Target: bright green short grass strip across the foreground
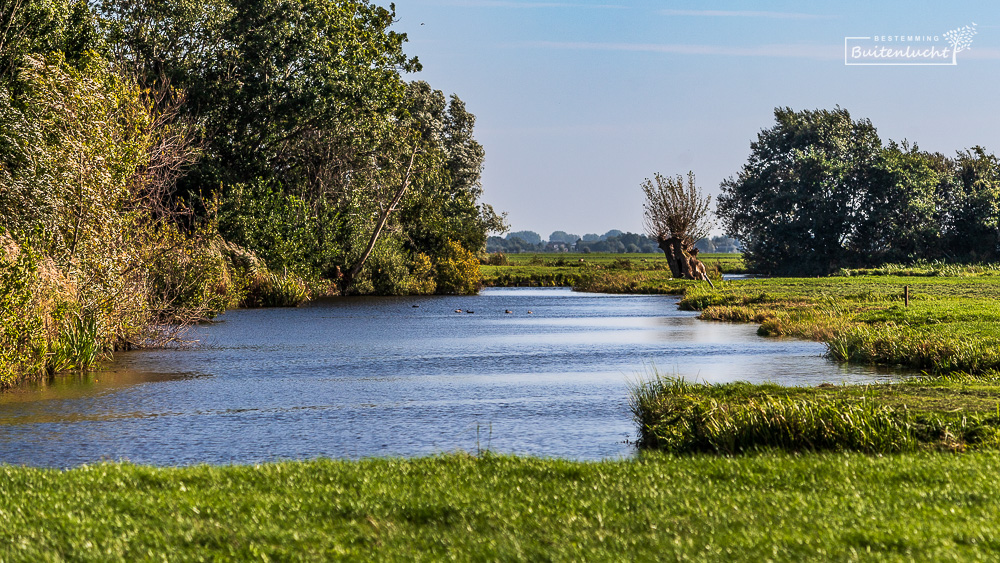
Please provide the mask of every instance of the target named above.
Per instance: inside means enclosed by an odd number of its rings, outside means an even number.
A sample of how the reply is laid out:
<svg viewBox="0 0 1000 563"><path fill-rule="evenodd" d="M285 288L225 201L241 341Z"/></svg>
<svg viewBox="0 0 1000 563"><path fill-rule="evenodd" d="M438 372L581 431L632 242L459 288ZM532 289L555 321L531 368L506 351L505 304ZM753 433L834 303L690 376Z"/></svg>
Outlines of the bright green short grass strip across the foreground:
<svg viewBox="0 0 1000 563"><path fill-rule="evenodd" d="M991 560L1000 454L0 468L0 558Z"/></svg>

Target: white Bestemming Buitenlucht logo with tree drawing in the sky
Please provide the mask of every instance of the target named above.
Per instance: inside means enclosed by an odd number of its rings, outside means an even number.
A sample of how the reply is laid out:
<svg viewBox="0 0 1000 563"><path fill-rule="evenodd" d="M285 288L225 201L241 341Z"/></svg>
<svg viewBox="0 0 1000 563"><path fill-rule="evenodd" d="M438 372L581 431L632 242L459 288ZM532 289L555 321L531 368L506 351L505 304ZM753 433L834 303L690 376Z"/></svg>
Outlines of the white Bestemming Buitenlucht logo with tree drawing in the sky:
<svg viewBox="0 0 1000 563"><path fill-rule="evenodd" d="M976 24L937 35L872 35L844 38L847 66L954 66L972 48Z"/></svg>

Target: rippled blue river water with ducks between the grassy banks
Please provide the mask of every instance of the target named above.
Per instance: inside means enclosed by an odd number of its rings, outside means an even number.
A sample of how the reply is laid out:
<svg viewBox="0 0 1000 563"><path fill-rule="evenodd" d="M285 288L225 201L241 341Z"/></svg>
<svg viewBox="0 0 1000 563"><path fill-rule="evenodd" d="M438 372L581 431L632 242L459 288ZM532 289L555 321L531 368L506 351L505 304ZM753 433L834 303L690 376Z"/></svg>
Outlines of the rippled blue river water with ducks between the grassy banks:
<svg viewBox="0 0 1000 563"><path fill-rule="evenodd" d="M102 371L0 394L0 462L183 465L487 448L617 458L633 452L628 385L653 366L709 382L886 377L825 359L821 344L695 317L674 297L562 288L230 311L193 329L188 349L119 353Z"/></svg>

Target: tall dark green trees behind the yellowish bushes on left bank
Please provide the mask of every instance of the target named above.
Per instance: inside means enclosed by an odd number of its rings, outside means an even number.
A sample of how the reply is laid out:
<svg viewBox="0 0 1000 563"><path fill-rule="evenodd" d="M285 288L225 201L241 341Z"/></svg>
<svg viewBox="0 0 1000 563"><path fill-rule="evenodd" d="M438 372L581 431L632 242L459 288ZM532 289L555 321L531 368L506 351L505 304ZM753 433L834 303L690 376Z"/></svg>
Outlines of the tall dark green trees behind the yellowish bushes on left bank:
<svg viewBox="0 0 1000 563"><path fill-rule="evenodd" d="M449 241L480 252L503 229L478 203L475 117L401 79L420 63L392 6L106 0L102 13L121 60L187 92L204 154L178 196L219 197L222 235L272 268L351 292L426 290L406 279L425 258L436 268ZM380 256L396 267L364 268Z"/></svg>

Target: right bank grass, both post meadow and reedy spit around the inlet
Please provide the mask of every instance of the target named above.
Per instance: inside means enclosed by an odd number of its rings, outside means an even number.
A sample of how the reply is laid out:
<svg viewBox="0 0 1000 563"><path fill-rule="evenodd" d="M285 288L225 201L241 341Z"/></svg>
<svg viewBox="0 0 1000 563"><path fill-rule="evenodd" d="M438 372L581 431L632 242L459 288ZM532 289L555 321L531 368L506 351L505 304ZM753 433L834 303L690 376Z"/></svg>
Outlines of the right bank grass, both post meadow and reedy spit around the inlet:
<svg viewBox="0 0 1000 563"><path fill-rule="evenodd" d="M826 278L683 288L699 318L825 343L837 361L918 380L824 388L699 385L654 374L633 390L640 444L674 452L1000 447L1000 275L993 266L888 266Z"/></svg>

